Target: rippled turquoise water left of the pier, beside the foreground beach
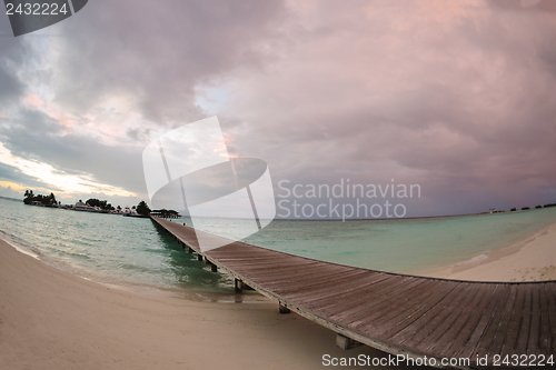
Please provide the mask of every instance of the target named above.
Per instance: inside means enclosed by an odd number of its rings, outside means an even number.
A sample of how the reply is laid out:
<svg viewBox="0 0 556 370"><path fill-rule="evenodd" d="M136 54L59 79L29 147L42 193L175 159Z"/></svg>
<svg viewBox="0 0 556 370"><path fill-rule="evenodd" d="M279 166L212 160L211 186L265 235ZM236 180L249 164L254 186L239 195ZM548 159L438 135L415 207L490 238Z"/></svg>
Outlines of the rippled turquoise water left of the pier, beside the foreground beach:
<svg viewBox="0 0 556 370"><path fill-rule="evenodd" d="M232 280L157 231L150 219L24 206L0 198L0 238L102 282L226 293Z"/></svg>

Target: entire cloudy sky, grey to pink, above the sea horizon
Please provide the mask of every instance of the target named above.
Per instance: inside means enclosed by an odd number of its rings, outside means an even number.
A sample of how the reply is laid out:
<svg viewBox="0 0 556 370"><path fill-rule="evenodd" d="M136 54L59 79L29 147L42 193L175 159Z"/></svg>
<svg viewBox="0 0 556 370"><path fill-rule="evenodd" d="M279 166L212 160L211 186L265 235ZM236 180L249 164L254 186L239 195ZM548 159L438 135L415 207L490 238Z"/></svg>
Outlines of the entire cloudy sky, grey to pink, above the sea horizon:
<svg viewBox="0 0 556 370"><path fill-rule="evenodd" d="M1 14L0 14L1 16ZM556 1L90 0L0 17L0 196L148 200L141 153L218 116L294 184L419 184L407 216L556 202Z"/></svg>

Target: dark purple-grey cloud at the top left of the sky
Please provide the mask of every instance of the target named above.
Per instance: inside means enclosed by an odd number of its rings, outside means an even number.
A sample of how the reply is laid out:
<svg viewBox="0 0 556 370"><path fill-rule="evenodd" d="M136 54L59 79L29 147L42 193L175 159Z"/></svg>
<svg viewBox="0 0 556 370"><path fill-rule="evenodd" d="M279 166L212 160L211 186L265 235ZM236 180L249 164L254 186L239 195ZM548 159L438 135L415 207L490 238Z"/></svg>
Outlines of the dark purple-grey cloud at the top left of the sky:
<svg viewBox="0 0 556 370"><path fill-rule="evenodd" d="M284 14L276 0L91 2L87 14L63 23L57 100L86 112L122 93L158 123L202 118L196 86L260 67L257 42Z"/></svg>

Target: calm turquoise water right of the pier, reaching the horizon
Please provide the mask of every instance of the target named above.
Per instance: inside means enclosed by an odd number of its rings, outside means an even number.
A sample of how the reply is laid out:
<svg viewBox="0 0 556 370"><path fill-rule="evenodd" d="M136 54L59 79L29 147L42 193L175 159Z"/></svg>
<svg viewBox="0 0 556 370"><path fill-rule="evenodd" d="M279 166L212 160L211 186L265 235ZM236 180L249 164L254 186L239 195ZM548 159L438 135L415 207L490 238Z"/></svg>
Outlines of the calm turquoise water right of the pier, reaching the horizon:
<svg viewBox="0 0 556 370"><path fill-rule="evenodd" d="M196 227L228 237L228 220ZM291 254L419 274L512 246L556 222L556 208L461 217L365 221L272 221L244 241ZM234 227L241 226L235 221Z"/></svg>

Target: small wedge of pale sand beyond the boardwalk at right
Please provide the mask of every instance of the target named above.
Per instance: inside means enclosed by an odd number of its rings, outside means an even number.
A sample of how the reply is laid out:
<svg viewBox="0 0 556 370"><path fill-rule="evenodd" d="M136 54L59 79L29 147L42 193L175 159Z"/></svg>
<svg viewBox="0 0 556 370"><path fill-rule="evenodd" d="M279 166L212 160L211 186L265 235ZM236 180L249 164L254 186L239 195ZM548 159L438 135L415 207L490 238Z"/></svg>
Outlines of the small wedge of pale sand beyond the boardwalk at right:
<svg viewBox="0 0 556 370"><path fill-rule="evenodd" d="M526 282L556 280L556 223L507 247L448 268L423 273L431 278Z"/></svg>

